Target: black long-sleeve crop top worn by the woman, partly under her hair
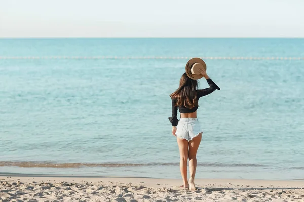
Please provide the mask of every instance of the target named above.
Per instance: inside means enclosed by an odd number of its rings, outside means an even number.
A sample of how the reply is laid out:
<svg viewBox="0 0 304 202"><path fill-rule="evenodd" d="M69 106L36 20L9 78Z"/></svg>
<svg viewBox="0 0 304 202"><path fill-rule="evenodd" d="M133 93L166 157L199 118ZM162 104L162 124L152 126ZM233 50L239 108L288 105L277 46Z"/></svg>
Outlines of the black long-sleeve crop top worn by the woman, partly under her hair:
<svg viewBox="0 0 304 202"><path fill-rule="evenodd" d="M197 99L214 92L216 89L220 90L220 88L210 78L207 79L206 81L210 87L202 89L202 90L196 90ZM198 109L197 106L189 109L189 108L186 108L185 106L175 106L175 105L176 105L176 99L172 98L172 116L168 117L172 126L177 126L177 124L178 124L177 107L179 108L180 113L191 113L191 112L195 112Z"/></svg>

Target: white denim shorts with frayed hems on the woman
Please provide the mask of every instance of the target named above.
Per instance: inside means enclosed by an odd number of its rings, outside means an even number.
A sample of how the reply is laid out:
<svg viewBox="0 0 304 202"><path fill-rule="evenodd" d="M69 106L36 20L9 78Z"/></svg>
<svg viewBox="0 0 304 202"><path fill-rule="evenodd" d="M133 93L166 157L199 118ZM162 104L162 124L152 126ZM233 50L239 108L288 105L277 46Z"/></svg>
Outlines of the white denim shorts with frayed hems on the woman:
<svg viewBox="0 0 304 202"><path fill-rule="evenodd" d="M176 136L191 141L203 133L198 118L180 118L177 124Z"/></svg>

